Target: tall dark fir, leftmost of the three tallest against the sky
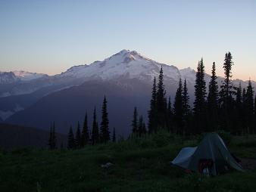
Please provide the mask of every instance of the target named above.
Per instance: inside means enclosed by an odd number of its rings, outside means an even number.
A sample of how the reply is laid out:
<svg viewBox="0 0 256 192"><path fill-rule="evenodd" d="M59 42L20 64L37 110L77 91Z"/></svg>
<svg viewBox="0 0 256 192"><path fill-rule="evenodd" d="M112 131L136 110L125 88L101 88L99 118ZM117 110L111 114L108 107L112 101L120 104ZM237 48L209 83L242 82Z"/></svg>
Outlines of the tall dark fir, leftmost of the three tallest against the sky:
<svg viewBox="0 0 256 192"><path fill-rule="evenodd" d="M194 120L195 133L201 133L205 127L205 95L206 83L204 81L204 62L203 59L198 62L198 69L195 78L195 102L194 102Z"/></svg>

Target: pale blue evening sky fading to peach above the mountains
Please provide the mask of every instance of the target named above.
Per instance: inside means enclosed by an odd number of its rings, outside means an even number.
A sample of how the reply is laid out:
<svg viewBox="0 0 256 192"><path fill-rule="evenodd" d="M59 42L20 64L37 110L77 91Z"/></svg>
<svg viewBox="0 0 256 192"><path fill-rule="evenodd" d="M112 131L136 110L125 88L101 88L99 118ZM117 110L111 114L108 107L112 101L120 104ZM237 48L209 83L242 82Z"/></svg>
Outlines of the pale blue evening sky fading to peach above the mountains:
<svg viewBox="0 0 256 192"><path fill-rule="evenodd" d="M256 80L256 1L0 0L0 71L56 74L122 49L206 72L233 54L233 79Z"/></svg>

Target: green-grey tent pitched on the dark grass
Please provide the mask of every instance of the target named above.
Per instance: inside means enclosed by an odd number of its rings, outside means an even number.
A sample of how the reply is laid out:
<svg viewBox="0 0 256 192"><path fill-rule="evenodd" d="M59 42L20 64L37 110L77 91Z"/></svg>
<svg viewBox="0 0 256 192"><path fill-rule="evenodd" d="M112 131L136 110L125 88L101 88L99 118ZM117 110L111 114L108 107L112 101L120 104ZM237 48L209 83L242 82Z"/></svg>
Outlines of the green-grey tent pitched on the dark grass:
<svg viewBox="0 0 256 192"><path fill-rule="evenodd" d="M218 175L223 169L233 168L243 171L242 166L229 153L222 138L217 133L208 133L198 147L185 147L171 162L173 165L200 172L206 165L210 175ZM204 169L205 167L202 166Z"/></svg>

